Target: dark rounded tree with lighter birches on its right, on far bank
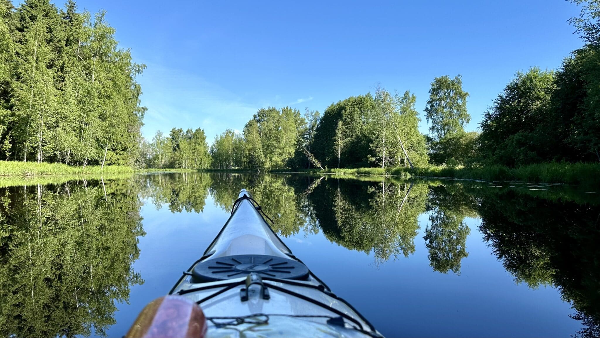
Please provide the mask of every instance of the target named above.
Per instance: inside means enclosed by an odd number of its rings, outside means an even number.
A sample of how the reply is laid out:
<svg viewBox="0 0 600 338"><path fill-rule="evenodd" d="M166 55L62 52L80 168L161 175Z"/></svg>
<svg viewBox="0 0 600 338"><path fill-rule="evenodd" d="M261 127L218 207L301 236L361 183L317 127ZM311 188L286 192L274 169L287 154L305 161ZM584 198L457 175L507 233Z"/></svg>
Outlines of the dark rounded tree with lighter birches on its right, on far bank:
<svg viewBox="0 0 600 338"><path fill-rule="evenodd" d="M392 95L377 88L375 97L349 97L329 106L315 129L314 156L334 168L427 164L415 102L409 91Z"/></svg>

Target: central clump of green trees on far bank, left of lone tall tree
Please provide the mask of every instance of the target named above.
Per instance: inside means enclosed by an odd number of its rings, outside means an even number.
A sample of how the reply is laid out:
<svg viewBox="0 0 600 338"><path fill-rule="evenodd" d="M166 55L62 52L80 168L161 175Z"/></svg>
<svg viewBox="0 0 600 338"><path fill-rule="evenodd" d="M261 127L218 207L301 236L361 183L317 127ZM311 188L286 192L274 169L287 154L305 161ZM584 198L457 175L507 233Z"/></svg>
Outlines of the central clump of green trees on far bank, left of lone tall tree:
<svg viewBox="0 0 600 338"><path fill-rule="evenodd" d="M220 169L364 167L427 164L418 131L416 97L407 91L349 97L318 111L262 108L242 133L230 129L211 146L211 167Z"/></svg>

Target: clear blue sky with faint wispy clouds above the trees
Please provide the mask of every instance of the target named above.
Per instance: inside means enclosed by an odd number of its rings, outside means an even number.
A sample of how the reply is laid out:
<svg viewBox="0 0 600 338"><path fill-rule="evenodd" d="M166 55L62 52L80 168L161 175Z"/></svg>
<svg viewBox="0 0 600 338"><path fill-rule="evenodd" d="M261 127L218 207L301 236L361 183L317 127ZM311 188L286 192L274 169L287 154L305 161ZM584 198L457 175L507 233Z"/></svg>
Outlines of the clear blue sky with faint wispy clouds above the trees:
<svg viewBox="0 0 600 338"><path fill-rule="evenodd" d="M581 41L564 0L80 0L107 11L121 46L148 66L142 133L203 128L209 143L257 109L323 112L373 91L410 90L422 112L435 76L463 75L475 130L517 70L556 69ZM422 116L422 132L428 126Z"/></svg>

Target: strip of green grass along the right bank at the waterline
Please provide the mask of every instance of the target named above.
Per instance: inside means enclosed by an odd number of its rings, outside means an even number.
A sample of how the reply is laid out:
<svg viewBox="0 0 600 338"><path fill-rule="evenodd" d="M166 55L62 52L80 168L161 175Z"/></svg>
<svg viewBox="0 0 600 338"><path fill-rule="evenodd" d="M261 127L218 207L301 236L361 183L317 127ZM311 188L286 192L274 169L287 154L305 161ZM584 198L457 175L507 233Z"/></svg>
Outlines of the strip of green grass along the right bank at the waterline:
<svg viewBox="0 0 600 338"><path fill-rule="evenodd" d="M413 176L455 177L481 180L600 185L600 164L540 163L518 168L489 165L481 168L425 167L410 170Z"/></svg>

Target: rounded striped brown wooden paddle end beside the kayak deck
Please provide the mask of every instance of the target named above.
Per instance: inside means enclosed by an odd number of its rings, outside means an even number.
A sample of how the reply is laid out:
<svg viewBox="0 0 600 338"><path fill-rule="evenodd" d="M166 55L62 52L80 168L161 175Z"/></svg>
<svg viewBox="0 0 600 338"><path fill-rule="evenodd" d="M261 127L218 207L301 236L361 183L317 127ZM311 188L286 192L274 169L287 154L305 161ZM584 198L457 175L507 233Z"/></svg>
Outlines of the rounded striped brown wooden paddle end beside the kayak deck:
<svg viewBox="0 0 600 338"><path fill-rule="evenodd" d="M206 326L204 313L196 303L169 295L146 305L125 338L203 338Z"/></svg>

